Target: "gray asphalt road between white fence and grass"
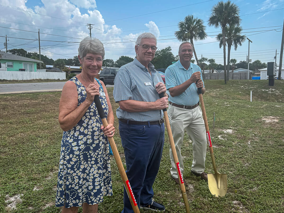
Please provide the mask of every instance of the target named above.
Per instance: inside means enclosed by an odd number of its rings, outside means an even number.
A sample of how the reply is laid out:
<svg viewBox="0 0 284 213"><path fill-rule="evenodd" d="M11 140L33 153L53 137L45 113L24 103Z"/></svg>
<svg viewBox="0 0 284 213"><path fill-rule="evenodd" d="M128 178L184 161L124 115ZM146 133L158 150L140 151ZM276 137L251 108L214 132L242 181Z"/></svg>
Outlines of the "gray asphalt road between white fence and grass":
<svg viewBox="0 0 284 213"><path fill-rule="evenodd" d="M65 82L0 84L0 94L62 91ZM113 87L113 85L106 85Z"/></svg>

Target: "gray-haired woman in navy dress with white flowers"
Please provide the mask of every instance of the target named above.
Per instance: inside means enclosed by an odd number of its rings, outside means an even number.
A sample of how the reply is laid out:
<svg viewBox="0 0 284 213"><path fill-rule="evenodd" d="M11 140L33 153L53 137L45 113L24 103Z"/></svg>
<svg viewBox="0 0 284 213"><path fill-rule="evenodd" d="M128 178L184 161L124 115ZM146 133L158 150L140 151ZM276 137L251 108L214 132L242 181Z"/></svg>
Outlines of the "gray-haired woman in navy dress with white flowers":
<svg viewBox="0 0 284 213"><path fill-rule="evenodd" d="M56 206L62 212L96 213L103 196L112 195L107 137L114 135L114 116L103 82L95 76L101 70L105 50L98 39L80 42L78 58L82 72L67 81L59 103L59 123L63 137L58 172ZM94 103L99 95L107 116L103 123Z"/></svg>

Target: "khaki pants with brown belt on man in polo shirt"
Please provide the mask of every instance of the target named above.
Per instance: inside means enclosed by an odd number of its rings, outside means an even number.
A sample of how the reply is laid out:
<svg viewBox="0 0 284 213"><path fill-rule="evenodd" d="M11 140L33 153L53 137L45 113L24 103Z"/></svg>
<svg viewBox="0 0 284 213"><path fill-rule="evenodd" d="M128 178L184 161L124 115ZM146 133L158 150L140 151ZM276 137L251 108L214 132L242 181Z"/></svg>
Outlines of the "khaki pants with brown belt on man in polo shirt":
<svg viewBox="0 0 284 213"><path fill-rule="evenodd" d="M205 170L206 157L206 131L202 111L199 106L194 109L183 109L169 105L168 117L174 137L175 147L178 154L181 173L183 174L183 160L181 156L181 145L183 142L184 130L186 130L189 138L193 141L193 161L191 170L201 174ZM176 164L170 148L170 158L172 168L170 170L173 178L178 178Z"/></svg>

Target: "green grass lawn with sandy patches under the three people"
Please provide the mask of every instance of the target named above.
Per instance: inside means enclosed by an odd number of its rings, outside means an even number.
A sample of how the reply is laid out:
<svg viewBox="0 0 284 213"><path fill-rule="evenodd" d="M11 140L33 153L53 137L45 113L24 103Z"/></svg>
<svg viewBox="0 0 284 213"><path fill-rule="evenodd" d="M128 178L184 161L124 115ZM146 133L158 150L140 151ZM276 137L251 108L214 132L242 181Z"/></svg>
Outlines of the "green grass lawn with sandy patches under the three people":
<svg viewBox="0 0 284 213"><path fill-rule="evenodd" d="M181 151L191 212L284 212L284 80L275 80L274 87L268 86L268 80L229 80L227 85L224 80L205 80L205 86L217 170L227 174L228 190L225 197L214 197L206 182L190 174L192 143L185 134ZM107 89L115 114L113 88ZM55 207L62 138L57 120L60 95L0 95L0 212L61 212ZM115 126L114 140L124 163L117 119ZM181 191L169 172L169 148L166 133L154 199L166 206L165 212L182 213ZM111 171L113 196L99 204L100 213L123 208L123 184L113 156ZM205 172L213 173L209 149Z"/></svg>

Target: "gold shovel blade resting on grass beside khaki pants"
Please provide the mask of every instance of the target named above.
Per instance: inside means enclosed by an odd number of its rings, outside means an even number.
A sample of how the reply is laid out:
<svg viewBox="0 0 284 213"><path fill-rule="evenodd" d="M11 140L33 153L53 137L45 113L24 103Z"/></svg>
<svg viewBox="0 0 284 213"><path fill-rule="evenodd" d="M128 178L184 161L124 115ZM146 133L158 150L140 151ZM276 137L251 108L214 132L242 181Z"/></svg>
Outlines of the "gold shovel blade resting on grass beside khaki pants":
<svg viewBox="0 0 284 213"><path fill-rule="evenodd" d="M227 193L227 174L207 174L208 187L212 195L224 197Z"/></svg>

